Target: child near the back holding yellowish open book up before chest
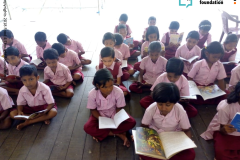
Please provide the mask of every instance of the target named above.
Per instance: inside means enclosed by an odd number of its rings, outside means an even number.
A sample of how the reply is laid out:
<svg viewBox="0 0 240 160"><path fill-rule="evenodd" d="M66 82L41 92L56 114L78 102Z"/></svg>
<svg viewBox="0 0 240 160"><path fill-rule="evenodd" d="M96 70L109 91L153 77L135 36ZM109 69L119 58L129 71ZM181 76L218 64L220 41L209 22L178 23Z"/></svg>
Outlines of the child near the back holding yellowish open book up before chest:
<svg viewBox="0 0 240 160"><path fill-rule="evenodd" d="M165 33L162 37L161 42L165 45L165 58L168 60L175 57L176 50L180 46L179 43L174 44L170 42L170 34L178 34L179 23L177 21L172 21L169 26L169 32ZM170 42L170 43L169 43Z"/></svg>

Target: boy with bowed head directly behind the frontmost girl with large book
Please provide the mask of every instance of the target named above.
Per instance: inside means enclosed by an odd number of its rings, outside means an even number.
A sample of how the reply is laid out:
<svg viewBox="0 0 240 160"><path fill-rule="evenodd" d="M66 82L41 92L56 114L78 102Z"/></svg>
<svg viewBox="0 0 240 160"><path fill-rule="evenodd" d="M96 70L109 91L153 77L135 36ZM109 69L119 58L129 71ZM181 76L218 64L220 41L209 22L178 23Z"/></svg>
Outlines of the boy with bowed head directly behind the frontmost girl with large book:
<svg viewBox="0 0 240 160"><path fill-rule="evenodd" d="M184 63L182 60L175 57L170 58L166 65L166 72L161 74L156 79L150 90L153 91L154 87L161 82L174 83L180 91L180 96L190 96L188 80L185 76L182 75L183 68ZM144 108L149 107L153 102L154 100L152 98L152 95L146 96L140 100L140 104ZM197 115L196 108L193 107L187 99L182 99L179 101L179 103L186 110L189 118L195 117Z"/></svg>

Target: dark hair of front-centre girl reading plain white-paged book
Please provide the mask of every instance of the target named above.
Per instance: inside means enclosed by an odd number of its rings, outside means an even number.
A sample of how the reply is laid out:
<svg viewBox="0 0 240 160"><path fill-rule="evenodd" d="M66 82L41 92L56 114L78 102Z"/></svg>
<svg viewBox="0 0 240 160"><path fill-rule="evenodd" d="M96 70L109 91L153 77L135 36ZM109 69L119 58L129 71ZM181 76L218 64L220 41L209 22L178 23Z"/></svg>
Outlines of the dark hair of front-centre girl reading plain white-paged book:
<svg viewBox="0 0 240 160"><path fill-rule="evenodd" d="M98 90L97 85L105 87L106 83L110 80L114 81L112 73L107 68L100 69L94 75L93 85Z"/></svg>

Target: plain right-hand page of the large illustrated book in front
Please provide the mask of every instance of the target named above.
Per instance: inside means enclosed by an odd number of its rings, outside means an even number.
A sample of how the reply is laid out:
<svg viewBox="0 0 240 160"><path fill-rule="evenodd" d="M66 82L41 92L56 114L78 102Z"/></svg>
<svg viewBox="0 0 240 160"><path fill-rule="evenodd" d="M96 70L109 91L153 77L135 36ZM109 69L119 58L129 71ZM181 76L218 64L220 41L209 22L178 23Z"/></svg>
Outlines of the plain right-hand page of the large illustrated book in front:
<svg viewBox="0 0 240 160"><path fill-rule="evenodd" d="M184 132L162 132L159 136L168 159L178 152L197 147Z"/></svg>

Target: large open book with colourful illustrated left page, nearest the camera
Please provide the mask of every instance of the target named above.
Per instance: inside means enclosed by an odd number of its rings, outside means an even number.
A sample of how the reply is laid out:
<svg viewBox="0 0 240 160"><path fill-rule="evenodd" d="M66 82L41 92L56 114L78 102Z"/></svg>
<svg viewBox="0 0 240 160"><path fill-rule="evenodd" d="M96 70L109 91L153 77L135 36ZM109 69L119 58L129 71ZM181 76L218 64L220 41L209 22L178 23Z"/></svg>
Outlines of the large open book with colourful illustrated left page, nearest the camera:
<svg viewBox="0 0 240 160"><path fill-rule="evenodd" d="M197 148L184 132L162 132L137 127L133 130L135 152L157 159L170 159L175 154L190 148Z"/></svg>

